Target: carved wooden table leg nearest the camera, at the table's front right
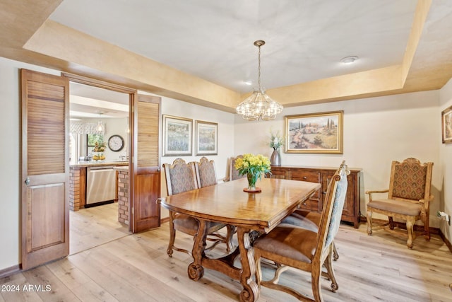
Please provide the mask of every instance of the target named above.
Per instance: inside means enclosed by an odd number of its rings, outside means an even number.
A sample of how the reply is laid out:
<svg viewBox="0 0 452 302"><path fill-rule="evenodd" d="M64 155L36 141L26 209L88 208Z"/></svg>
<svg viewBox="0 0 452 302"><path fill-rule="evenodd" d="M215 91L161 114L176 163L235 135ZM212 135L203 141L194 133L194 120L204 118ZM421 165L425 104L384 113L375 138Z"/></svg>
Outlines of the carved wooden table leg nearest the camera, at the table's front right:
<svg viewBox="0 0 452 302"><path fill-rule="evenodd" d="M239 227L237 229L237 240L242 262L242 274L240 274L240 283L243 286L240 293L240 301L257 301L259 298L259 287L252 277L256 274L256 264L254 262L254 249L249 240L249 231Z"/></svg>

